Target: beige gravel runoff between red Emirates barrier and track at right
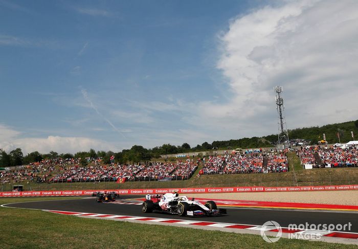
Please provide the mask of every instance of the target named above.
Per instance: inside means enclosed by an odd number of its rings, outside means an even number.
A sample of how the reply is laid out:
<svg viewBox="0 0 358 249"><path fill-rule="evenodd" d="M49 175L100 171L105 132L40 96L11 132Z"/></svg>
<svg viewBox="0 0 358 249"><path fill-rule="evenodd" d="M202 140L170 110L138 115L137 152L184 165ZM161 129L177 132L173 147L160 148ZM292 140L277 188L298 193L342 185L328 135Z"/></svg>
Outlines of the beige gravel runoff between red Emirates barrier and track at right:
<svg viewBox="0 0 358 249"><path fill-rule="evenodd" d="M188 194L188 196L196 197L196 198L212 198L212 199L301 202L301 203L358 206L358 190L276 192L276 193L258 192L258 193Z"/></svg>

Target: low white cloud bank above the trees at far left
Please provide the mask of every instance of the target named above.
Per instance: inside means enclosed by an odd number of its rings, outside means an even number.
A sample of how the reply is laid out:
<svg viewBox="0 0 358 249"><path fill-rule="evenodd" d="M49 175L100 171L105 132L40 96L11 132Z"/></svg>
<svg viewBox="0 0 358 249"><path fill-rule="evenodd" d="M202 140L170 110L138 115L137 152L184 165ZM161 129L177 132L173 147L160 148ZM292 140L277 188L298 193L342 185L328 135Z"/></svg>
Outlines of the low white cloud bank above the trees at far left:
<svg viewBox="0 0 358 249"><path fill-rule="evenodd" d="M21 148L24 154L32 151L48 153L53 150L58 153L88 151L91 148L96 150L119 151L120 148L114 143L107 143L102 140L82 137L59 137L50 135L47 138L19 138L20 132L6 126L0 125L0 148L11 151Z"/></svg>

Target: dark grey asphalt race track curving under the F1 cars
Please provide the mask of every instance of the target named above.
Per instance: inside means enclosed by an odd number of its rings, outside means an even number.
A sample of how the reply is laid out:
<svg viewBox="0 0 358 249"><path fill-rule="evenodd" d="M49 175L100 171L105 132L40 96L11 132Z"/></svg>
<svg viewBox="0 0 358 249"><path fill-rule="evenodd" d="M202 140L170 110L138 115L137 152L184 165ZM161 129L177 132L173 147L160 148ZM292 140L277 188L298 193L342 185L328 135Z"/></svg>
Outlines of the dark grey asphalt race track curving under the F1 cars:
<svg viewBox="0 0 358 249"><path fill-rule="evenodd" d="M123 198L138 198L143 196L125 196ZM117 198L118 199L118 198ZM348 224L350 232L358 233L358 212L327 212L327 211L297 211L297 210L265 210L265 209L227 209L228 214L217 217L180 217L162 213L142 213L140 205L121 205L115 203L98 203L95 198L34 201L12 203L6 207L57 210L83 213L98 213L111 215L144 216L152 218L185 219L195 221L226 222L237 224L262 225L266 221L276 221L281 227L288 224Z"/></svg>

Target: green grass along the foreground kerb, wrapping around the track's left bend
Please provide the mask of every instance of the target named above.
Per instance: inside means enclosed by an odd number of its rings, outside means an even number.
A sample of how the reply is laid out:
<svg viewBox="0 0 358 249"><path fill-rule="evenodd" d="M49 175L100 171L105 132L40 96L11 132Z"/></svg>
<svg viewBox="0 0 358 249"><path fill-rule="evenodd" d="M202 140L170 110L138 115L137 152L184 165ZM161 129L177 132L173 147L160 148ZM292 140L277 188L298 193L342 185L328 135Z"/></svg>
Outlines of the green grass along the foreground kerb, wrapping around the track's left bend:
<svg viewBox="0 0 358 249"><path fill-rule="evenodd" d="M1 198L0 204L63 198ZM0 208L1 248L356 248L353 245L86 219L39 210Z"/></svg>

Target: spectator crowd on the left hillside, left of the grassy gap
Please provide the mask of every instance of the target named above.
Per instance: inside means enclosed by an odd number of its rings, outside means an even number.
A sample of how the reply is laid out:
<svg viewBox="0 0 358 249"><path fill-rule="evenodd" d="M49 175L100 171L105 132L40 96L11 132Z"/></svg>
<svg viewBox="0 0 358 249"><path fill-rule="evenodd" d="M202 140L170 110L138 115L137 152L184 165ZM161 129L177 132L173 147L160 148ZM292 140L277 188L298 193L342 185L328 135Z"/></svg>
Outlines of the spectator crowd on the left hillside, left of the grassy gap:
<svg viewBox="0 0 358 249"><path fill-rule="evenodd" d="M26 180L36 183L101 182L126 180L182 180L188 179L197 169L193 160L176 163L144 164L100 164L100 159L86 158L88 166L81 166L80 159L42 160L10 171L0 171L0 184L21 183Z"/></svg>

